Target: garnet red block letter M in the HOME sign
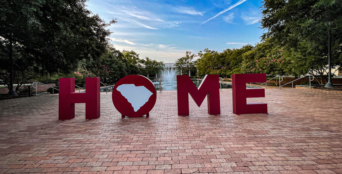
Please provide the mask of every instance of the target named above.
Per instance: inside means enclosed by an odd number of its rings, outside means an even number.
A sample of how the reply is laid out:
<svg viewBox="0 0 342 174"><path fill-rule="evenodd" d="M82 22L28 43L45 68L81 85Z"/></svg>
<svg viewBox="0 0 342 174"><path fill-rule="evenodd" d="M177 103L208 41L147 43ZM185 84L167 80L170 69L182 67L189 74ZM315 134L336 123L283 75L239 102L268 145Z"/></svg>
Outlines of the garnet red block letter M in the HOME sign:
<svg viewBox="0 0 342 174"><path fill-rule="evenodd" d="M221 114L219 75L206 75L196 88L194 82L187 75L177 76L177 105L178 115L189 115L189 95L194 99L198 107L208 95L208 113L210 115Z"/></svg>

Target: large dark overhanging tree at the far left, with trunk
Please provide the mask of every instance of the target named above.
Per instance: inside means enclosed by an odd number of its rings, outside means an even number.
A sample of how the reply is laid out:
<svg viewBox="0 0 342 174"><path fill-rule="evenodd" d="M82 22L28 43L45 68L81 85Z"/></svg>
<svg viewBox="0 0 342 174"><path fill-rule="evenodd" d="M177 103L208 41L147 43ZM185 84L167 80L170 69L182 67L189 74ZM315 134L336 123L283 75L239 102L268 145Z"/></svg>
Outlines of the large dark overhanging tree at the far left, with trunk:
<svg viewBox="0 0 342 174"><path fill-rule="evenodd" d="M108 25L86 9L86 0L2 0L0 36L8 48L9 90L13 92L13 44L20 44L36 72L72 72L78 61L98 58L109 45Z"/></svg>

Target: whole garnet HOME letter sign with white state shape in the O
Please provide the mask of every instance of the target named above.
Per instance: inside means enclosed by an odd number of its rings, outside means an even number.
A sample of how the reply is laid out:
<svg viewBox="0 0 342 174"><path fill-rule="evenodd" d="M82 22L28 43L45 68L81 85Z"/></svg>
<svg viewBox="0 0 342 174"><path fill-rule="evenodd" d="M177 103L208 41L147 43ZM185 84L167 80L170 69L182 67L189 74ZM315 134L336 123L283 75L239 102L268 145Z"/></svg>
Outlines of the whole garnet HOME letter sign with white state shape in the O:
<svg viewBox="0 0 342 174"><path fill-rule="evenodd" d="M246 83L266 82L266 74L234 74L233 113L267 113L265 103L247 103L247 98L265 97L264 89L246 89ZM206 75L198 89L187 75L177 76L178 115L189 115L189 97L201 106L208 99L208 113L219 115L220 89L219 75ZM86 119L100 117L100 78L86 78L86 92L75 92L75 78L59 79L58 118L69 120L75 117L75 103L86 103ZM151 80L140 75L129 75L120 79L113 88L113 104L122 117L149 116L157 100L157 90Z"/></svg>

